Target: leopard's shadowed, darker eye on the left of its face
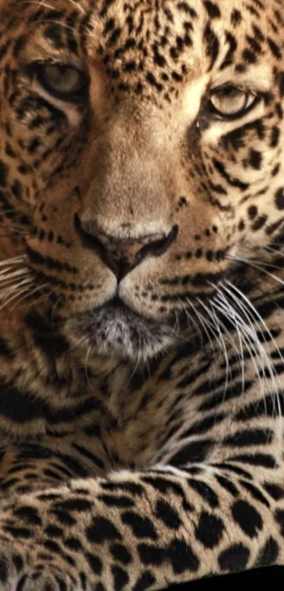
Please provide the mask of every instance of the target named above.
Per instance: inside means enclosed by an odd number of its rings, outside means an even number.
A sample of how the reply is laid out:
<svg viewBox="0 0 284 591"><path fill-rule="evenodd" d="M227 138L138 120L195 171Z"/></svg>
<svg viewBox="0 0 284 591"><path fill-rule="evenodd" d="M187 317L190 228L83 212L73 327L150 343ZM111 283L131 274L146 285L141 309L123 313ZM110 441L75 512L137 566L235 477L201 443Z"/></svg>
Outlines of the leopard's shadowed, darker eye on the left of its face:
<svg viewBox="0 0 284 591"><path fill-rule="evenodd" d="M49 94L63 101L78 100L88 85L84 72L65 63L37 63L33 73Z"/></svg>

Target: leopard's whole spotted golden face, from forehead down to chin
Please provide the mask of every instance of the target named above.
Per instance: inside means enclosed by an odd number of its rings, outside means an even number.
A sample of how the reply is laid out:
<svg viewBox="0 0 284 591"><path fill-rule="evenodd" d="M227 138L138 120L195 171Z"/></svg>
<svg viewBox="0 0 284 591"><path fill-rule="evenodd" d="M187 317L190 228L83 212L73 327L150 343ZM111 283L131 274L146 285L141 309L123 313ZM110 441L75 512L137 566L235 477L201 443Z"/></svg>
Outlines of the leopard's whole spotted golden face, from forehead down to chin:
<svg viewBox="0 0 284 591"><path fill-rule="evenodd" d="M279 240L282 9L3 2L3 251L27 256L25 304L56 310L82 351L173 346Z"/></svg>

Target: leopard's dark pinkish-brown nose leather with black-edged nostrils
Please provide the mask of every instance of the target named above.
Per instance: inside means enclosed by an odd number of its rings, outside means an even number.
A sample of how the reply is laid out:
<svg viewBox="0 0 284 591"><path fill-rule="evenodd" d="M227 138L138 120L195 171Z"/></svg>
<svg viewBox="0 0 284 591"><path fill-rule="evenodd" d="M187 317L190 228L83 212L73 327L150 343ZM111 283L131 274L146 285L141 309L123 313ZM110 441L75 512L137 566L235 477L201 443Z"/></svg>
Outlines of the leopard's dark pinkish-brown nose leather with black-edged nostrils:
<svg viewBox="0 0 284 591"><path fill-rule="evenodd" d="M118 280L123 279L147 256L161 256L178 235L178 227L174 226L168 235L159 232L135 239L119 239L106 234L96 223L82 222L78 214L75 215L74 225L82 245L97 251Z"/></svg>

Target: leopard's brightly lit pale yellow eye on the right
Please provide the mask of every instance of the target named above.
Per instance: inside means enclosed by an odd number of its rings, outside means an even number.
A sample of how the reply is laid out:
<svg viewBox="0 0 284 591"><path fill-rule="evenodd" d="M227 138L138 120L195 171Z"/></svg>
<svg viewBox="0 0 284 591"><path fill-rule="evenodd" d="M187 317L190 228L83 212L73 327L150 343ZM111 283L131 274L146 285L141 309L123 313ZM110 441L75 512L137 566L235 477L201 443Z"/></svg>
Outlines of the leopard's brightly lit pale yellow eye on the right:
<svg viewBox="0 0 284 591"><path fill-rule="evenodd" d="M211 92L210 107L215 116L234 119L249 111L256 101L257 97L252 92L228 86Z"/></svg>

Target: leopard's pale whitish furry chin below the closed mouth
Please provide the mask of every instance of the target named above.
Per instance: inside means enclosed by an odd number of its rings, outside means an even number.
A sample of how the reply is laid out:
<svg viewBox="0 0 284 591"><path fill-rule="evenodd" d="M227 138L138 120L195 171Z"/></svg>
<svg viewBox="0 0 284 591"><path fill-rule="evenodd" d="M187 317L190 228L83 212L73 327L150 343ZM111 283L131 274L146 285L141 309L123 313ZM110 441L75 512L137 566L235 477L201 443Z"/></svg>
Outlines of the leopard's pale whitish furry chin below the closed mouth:
<svg viewBox="0 0 284 591"><path fill-rule="evenodd" d="M133 363L144 363L166 353L180 340L171 323L150 321L118 298L80 313L70 322L77 339L85 337L92 354Z"/></svg>

